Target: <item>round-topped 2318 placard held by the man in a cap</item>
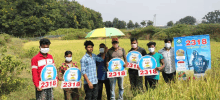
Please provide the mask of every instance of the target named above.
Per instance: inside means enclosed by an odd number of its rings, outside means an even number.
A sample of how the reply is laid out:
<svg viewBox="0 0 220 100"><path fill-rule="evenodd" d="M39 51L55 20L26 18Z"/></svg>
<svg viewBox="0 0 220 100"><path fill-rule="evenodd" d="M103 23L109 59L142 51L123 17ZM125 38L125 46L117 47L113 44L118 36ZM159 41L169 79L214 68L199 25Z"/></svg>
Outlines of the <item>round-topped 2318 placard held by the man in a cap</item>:
<svg viewBox="0 0 220 100"><path fill-rule="evenodd" d="M114 78L126 76L126 71L123 67L124 64L125 62L120 58L114 58L109 61L107 77Z"/></svg>

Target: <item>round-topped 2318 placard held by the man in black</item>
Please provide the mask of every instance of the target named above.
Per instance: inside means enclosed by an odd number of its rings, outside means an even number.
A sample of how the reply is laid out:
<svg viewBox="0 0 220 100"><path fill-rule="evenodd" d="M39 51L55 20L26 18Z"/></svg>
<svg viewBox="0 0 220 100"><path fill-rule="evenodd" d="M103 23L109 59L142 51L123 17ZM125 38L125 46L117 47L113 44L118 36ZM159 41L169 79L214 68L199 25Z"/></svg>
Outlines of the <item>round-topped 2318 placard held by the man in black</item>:
<svg viewBox="0 0 220 100"><path fill-rule="evenodd" d="M128 60L128 68L131 69L138 69L138 61L142 57L141 53L138 51L131 51L127 54L127 60Z"/></svg>

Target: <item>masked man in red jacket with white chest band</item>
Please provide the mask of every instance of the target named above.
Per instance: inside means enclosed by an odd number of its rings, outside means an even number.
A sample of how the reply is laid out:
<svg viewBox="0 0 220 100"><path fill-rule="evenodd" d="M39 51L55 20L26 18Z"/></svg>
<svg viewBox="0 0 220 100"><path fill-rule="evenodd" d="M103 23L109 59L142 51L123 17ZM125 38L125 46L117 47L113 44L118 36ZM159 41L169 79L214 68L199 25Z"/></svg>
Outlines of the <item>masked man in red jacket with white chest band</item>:
<svg viewBox="0 0 220 100"><path fill-rule="evenodd" d="M37 100L53 100L53 89L42 89L39 87L41 81L40 74L44 66L48 64L54 65L52 55L48 54L50 40L43 38L40 40L40 52L31 59L32 66L32 79L36 88L36 99Z"/></svg>

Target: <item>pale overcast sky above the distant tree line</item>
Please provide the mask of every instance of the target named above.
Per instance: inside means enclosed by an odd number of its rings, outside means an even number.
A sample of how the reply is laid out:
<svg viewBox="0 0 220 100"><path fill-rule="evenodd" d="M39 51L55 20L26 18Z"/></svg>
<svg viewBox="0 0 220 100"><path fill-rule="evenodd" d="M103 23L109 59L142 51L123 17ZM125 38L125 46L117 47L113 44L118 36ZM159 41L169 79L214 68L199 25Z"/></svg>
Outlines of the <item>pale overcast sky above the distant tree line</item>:
<svg viewBox="0 0 220 100"><path fill-rule="evenodd" d="M119 20L140 23L153 20L156 26L174 23L185 16L193 16L201 22L208 12L220 10L220 0L76 0L81 5L98 11L103 21Z"/></svg>

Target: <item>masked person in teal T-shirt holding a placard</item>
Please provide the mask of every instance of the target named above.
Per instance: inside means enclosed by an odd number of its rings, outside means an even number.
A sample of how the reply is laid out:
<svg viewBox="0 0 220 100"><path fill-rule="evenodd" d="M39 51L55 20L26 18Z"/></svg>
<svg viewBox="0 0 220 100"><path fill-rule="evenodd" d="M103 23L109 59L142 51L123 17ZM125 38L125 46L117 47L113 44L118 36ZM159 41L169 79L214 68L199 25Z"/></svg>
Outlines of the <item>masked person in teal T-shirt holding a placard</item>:
<svg viewBox="0 0 220 100"><path fill-rule="evenodd" d="M155 68L155 70L157 71L162 71L164 68L164 60L163 60L163 56L157 52L155 52L155 46L156 43L155 42L149 42L147 44L148 46L148 50L149 50L149 55L153 56L156 59L157 62L157 67ZM160 67L160 63L162 63L162 66ZM160 79L160 75L151 75L151 76L145 76L145 86L146 86L146 90L148 90L148 84L150 86L150 88L154 89L156 87L156 84L158 83L158 80Z"/></svg>

